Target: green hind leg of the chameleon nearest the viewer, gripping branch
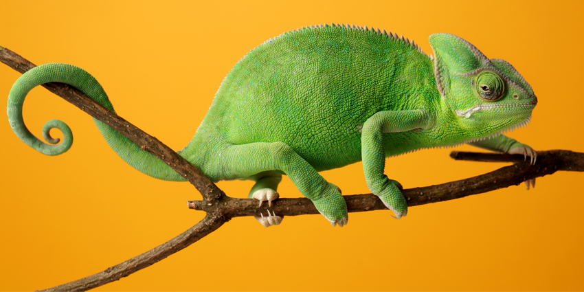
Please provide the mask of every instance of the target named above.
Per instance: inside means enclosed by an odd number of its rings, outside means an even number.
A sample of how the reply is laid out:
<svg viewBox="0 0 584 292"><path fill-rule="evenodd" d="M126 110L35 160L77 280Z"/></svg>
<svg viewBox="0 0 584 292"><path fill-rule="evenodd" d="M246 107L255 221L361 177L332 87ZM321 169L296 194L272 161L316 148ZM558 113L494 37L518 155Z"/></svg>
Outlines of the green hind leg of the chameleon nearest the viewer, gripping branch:
<svg viewBox="0 0 584 292"><path fill-rule="evenodd" d="M311 199L317 210L333 225L342 227L348 221L347 205L337 186L328 183L318 172L290 146L282 142L250 143L227 146L219 159L221 172L234 177L250 177L260 172L280 170L296 188ZM258 188L273 183L258 180ZM256 186L254 186L256 188Z"/></svg>

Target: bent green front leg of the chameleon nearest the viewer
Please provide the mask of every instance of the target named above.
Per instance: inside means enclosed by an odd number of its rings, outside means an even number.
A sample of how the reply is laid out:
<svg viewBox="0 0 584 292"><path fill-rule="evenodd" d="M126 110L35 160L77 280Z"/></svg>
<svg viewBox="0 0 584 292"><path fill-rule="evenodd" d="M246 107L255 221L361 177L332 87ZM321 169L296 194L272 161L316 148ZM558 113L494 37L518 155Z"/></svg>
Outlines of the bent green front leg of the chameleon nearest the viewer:
<svg viewBox="0 0 584 292"><path fill-rule="evenodd" d="M424 111L380 111L363 124L361 130L361 157L367 186L379 196L385 207L392 210L396 218L407 214L407 202L401 194L397 181L388 179L383 173L385 151L383 133L405 132L427 125Z"/></svg>

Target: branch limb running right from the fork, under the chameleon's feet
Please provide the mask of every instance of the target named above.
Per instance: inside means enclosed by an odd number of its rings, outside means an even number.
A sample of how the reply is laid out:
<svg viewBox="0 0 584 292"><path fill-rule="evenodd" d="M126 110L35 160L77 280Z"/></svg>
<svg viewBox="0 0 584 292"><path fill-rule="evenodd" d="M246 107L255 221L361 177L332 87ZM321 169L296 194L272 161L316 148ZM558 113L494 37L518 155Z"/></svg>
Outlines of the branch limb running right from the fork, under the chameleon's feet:
<svg viewBox="0 0 584 292"><path fill-rule="evenodd" d="M411 188L403 190L403 195L407 198L409 207L425 205L459 199L472 194L490 192L508 186L517 186L528 179L551 175L558 170L584 171L584 153L575 153L568 150L549 150L537 153L537 163L535 165L524 161L521 155L502 155L495 153L456 153L451 157L458 160L474 161L521 161L512 166L505 166L484 175L451 181L436 186L422 188ZM349 212L367 212L372 210L387 210L385 205L374 194L355 194L344 196ZM188 206L194 210L210 212L216 210L213 205L208 205L204 201L189 201ZM276 212L279 216L298 216L304 214L319 214L309 199L278 199L273 201L271 207L264 204L258 207L255 199L234 199L227 198L221 206L223 214L229 217L257 216L262 212L267 213L267 209Z"/></svg>

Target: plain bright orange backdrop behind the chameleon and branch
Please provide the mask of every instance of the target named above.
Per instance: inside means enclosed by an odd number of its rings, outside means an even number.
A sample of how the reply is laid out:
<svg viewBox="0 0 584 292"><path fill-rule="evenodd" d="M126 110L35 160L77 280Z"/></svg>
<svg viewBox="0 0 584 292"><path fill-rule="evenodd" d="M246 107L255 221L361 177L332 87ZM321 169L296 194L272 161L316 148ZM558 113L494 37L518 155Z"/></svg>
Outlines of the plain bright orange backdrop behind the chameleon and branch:
<svg viewBox="0 0 584 292"><path fill-rule="evenodd" d="M122 2L122 3L119 3ZM456 34L512 63L539 104L510 134L537 150L584 151L581 1L2 1L0 45L37 65L70 63L100 80L117 113L175 150L186 146L229 69L282 32L320 23L385 28L431 52L427 37ZM546 3L546 4L544 4ZM549 4L548 4L549 3ZM8 96L16 71L0 65ZM0 123L0 290L46 289L102 271L203 218L188 183L158 181L124 164L91 118L45 89L32 91L27 126L58 118L71 150L47 157ZM475 150L462 146L459 150ZM449 149L388 159L405 188L494 170L453 161ZM323 173L344 194L368 192L361 164ZM235 218L198 243L128 278L120 290L583 290L581 173L539 178L465 199L390 212L321 216L261 227ZM245 197L249 181L218 183ZM300 193L288 179L282 196Z"/></svg>

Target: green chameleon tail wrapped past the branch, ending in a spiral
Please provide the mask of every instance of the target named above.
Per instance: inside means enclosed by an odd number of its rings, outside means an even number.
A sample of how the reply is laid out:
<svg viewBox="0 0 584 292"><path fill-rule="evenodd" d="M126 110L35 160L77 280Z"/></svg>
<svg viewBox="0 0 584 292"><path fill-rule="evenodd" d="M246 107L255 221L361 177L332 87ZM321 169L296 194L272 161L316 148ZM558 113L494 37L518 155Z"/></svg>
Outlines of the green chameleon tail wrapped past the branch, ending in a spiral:
<svg viewBox="0 0 584 292"><path fill-rule="evenodd" d="M43 126L43 137L50 144L41 141L26 128L22 117L22 107L27 93L34 87L47 82L62 82L71 87L75 87L86 96L95 100L106 109L114 112L111 102L96 78L93 78L87 71L67 64L45 64L34 67L21 76L10 89L8 96L8 121L12 131L25 144L45 155L59 155L67 152L73 144L73 134L67 124L59 120L51 120ZM164 164L163 161L154 155L142 150L130 139L118 133L110 126L93 119L106 140L107 144L119 155L127 164L140 172L166 181L184 181L175 170ZM63 132L63 142L58 144L59 139L54 139L49 135L51 128L58 128Z"/></svg>

